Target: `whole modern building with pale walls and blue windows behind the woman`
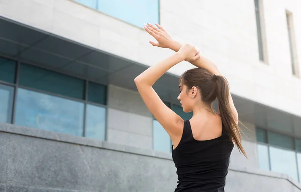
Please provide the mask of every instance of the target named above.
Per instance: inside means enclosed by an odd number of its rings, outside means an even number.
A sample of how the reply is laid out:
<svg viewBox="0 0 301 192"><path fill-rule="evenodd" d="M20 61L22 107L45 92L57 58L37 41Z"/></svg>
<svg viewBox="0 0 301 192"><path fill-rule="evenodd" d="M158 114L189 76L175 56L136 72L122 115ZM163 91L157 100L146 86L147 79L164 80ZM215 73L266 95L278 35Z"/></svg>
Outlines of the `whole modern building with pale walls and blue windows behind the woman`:
<svg viewBox="0 0 301 192"><path fill-rule="evenodd" d="M134 78L173 52L160 23L228 79L248 159L226 191L301 191L298 0L0 0L0 191L173 191L171 141ZM182 62L154 85L183 119Z"/></svg>

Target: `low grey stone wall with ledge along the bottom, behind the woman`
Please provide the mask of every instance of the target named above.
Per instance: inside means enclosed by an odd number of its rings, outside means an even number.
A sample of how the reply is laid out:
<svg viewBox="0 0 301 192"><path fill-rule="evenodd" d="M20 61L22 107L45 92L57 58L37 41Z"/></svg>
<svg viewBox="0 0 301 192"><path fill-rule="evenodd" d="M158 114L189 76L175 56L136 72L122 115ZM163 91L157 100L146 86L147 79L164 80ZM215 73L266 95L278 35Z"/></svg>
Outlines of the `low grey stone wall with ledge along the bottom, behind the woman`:
<svg viewBox="0 0 301 192"><path fill-rule="evenodd" d="M0 124L0 191L173 191L170 154ZM286 175L230 166L226 191L296 192Z"/></svg>

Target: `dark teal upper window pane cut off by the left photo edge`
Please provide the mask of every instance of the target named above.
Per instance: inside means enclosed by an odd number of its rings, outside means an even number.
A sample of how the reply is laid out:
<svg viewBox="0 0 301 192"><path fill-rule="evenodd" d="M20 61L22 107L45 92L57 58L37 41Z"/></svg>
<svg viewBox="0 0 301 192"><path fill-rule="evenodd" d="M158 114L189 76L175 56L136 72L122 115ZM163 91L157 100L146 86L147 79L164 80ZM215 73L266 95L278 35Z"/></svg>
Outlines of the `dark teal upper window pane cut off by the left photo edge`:
<svg viewBox="0 0 301 192"><path fill-rule="evenodd" d="M16 62L0 57L0 81L15 82Z"/></svg>

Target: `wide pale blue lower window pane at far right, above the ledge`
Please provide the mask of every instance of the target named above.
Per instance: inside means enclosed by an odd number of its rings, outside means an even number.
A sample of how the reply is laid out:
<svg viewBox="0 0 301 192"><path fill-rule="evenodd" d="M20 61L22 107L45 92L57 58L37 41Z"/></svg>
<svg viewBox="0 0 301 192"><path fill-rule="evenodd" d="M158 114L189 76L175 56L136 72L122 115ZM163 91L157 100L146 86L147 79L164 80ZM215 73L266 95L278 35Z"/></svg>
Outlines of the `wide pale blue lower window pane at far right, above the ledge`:
<svg viewBox="0 0 301 192"><path fill-rule="evenodd" d="M271 170L298 180L296 152L270 147Z"/></svg>

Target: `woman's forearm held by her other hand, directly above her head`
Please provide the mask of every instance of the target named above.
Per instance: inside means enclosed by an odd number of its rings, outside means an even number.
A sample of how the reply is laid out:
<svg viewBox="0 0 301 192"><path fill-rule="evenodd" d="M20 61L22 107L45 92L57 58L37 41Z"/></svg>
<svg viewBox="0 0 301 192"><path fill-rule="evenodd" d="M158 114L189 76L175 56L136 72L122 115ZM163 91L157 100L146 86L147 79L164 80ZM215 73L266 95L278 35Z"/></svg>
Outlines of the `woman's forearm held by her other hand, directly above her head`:
<svg viewBox="0 0 301 192"><path fill-rule="evenodd" d="M170 49L177 52L181 48L181 46L182 46L182 44L180 42L173 41L171 43ZM196 67L205 68L215 75L221 75L218 68L216 67L216 65L212 61L207 59L205 56L203 56L202 54L200 54L200 59L198 59L196 61L192 61L190 63Z"/></svg>

